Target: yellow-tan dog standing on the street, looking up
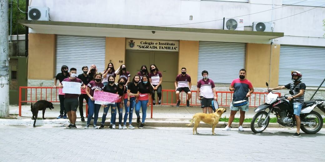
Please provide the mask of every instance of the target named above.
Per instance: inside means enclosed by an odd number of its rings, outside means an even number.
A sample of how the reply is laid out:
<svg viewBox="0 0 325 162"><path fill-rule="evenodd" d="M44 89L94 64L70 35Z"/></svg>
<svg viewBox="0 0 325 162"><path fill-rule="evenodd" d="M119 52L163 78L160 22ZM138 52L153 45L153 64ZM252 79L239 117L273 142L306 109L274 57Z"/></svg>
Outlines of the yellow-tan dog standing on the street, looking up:
<svg viewBox="0 0 325 162"><path fill-rule="evenodd" d="M215 126L218 124L219 119L220 119L221 115L222 115L224 112L226 112L226 109L219 108L219 109L217 109L217 110L216 110L214 113L212 113L212 114L205 114L205 113L201 113L201 112L200 112L200 113L196 113L196 114L193 116L193 118L192 118L192 120L191 120L191 123L187 124L187 126L191 126L191 125L193 124L193 122L194 122L193 134L194 134L194 135L195 135L196 133L199 134L198 131L197 131L197 128L198 128L198 126L199 126L199 124L200 124L200 121L203 121L203 122L205 122L205 123L207 123L207 124L212 125L212 135L215 135L215 133L214 133L214 128L215 128ZM194 131L195 131L196 133L194 133Z"/></svg>

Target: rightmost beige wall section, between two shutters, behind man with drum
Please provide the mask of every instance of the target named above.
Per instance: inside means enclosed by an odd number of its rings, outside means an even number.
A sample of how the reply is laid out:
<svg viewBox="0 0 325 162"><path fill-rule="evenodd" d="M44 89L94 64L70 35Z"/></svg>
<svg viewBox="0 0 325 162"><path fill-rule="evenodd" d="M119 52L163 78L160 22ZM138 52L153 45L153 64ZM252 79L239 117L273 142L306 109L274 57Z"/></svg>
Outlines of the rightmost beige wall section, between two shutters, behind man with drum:
<svg viewBox="0 0 325 162"><path fill-rule="evenodd" d="M278 85L280 46L276 46L277 48L270 44L247 43L245 67L247 79L253 87L265 87L265 82L269 82L270 87Z"/></svg>

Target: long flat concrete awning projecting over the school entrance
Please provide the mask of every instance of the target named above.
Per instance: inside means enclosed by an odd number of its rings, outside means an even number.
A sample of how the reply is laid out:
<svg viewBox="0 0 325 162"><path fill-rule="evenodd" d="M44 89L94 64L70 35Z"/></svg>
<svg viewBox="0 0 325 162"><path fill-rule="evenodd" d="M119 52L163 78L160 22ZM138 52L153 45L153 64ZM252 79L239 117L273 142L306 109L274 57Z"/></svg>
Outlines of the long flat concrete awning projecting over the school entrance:
<svg viewBox="0 0 325 162"><path fill-rule="evenodd" d="M31 28L31 33L159 40L221 41L268 44L272 39L283 37L284 35L284 33L280 32L173 28L83 22L19 20L18 23Z"/></svg>

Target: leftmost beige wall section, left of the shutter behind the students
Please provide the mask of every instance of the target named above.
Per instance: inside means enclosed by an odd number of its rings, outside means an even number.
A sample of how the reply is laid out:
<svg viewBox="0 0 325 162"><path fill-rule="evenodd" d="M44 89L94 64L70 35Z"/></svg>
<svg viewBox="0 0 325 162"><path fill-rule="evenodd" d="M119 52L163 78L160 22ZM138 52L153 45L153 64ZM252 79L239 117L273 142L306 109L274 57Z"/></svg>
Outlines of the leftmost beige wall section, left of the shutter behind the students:
<svg viewBox="0 0 325 162"><path fill-rule="evenodd" d="M55 77L55 35L28 35L28 79L50 80Z"/></svg>

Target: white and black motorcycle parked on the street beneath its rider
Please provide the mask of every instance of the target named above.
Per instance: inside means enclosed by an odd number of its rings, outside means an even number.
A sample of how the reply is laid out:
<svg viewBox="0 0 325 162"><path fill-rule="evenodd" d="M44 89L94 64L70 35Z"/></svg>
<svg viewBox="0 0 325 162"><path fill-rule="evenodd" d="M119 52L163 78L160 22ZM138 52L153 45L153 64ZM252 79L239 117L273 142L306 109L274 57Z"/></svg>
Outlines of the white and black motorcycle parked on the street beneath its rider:
<svg viewBox="0 0 325 162"><path fill-rule="evenodd" d="M267 89L269 89L268 83L266 83L266 86ZM251 130L253 133L261 133L267 128L270 122L270 113L276 115L280 125L290 127L296 126L295 115L293 114L293 101L287 99L286 95L288 94L279 97L279 95L272 93L272 91L268 90L268 92L266 102L254 110L254 112L257 113L254 115L251 122ZM293 95L293 92L290 90L289 94ZM300 111L300 129L303 132L315 134L322 128L323 118L318 112L313 111L313 109L317 106L325 113L325 106L322 105L323 103L324 100L322 99L313 99L304 102ZM266 109L269 109L269 111L266 112Z"/></svg>

